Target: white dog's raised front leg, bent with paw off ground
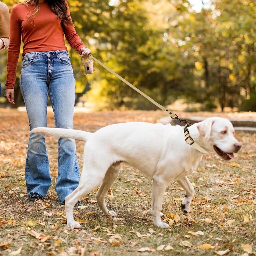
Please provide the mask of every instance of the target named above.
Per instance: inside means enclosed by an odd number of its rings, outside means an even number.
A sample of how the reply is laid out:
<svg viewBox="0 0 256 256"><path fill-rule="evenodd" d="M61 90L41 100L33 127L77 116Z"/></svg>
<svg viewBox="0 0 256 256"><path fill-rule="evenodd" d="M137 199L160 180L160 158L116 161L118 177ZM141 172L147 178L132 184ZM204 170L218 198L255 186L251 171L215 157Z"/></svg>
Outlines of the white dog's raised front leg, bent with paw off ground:
<svg viewBox="0 0 256 256"><path fill-rule="evenodd" d="M177 182L185 190L185 193L186 193L181 203L181 211L183 212L183 214L188 215L192 198L195 195L195 189L190 183L190 181L188 180L187 176L185 176L180 180L177 180Z"/></svg>

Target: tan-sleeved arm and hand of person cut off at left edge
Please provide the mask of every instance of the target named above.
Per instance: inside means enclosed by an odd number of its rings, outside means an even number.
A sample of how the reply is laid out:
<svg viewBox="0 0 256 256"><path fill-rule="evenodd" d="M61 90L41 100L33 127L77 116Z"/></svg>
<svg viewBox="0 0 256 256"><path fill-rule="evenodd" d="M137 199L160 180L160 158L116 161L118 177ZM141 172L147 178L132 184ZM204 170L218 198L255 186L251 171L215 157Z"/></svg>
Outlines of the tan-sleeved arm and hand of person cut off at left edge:
<svg viewBox="0 0 256 256"><path fill-rule="evenodd" d="M10 14L7 5L0 11L0 50L7 48L10 44L9 38Z"/></svg>

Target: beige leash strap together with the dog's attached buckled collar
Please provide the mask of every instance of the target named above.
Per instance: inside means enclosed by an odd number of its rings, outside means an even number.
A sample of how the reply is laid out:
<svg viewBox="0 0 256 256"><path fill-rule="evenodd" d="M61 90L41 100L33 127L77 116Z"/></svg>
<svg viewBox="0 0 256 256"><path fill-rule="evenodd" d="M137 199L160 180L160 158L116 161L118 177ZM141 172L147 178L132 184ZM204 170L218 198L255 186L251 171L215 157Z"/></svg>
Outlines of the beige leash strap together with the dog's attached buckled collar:
<svg viewBox="0 0 256 256"><path fill-rule="evenodd" d="M147 94L145 94L144 92L142 92L141 90L139 90L137 87L135 87L134 85L132 85L131 83L129 83L128 81L126 81L124 78L122 78L121 76L119 76L116 72L114 72L112 69L110 69L109 67L107 67L105 64L103 64L102 62L100 62L99 60L97 60L95 57L93 57L92 55L90 56L93 60L95 60L98 64L100 64L103 68L105 68L107 71L109 71L111 74L113 74L114 76L116 76L118 79L120 79L121 81L123 81L125 84L129 85L133 90L135 90L136 92L138 92L139 94L141 94L143 97L145 97L147 100L149 100L151 103L153 103L155 106L157 106L158 108L160 108L162 111L164 111L167 115L169 115L172 119L178 120L182 123L184 123L185 127L183 129L184 131L184 136L185 136L185 141L192 146L194 149L200 151L203 154L208 153L205 149L203 149L202 147L200 147L191 137L188 131L188 127L193 125L193 123L185 120L185 119L180 119L175 113L172 113L168 108L165 108L164 106L160 105L158 102L154 101L152 98L150 98ZM81 66L82 66L82 60L80 63L80 70L81 70ZM79 70L79 72L80 72Z"/></svg>

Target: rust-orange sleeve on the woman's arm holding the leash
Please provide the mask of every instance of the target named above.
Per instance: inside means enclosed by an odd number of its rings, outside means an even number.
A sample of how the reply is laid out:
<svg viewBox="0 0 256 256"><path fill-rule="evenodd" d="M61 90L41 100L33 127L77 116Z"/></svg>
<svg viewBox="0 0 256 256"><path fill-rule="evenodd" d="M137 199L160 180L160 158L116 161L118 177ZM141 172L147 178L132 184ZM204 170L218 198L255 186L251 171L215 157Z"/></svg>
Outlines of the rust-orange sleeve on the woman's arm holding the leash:
<svg viewBox="0 0 256 256"><path fill-rule="evenodd" d="M67 13L70 15L68 4L67 4L67 8L68 8ZM75 49L76 51L78 51L79 54L81 54L81 51L80 51L81 48L86 47L86 46L83 44L82 40L80 39L79 35L77 34L74 25L71 23L68 23L67 26L62 25L62 27L63 27L65 37L66 37L68 43L70 44L70 46L73 49Z"/></svg>

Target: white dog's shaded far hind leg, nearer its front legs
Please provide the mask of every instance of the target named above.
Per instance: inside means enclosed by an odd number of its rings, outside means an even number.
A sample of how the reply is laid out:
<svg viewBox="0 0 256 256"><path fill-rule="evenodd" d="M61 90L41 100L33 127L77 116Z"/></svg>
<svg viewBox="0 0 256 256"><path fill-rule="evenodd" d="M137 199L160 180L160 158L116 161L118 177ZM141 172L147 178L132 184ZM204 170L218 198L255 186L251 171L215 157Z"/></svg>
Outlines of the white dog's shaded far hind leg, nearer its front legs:
<svg viewBox="0 0 256 256"><path fill-rule="evenodd" d="M111 216L116 216L116 213L114 211L108 210L105 203L105 198L108 193L108 190L111 188L112 184L117 179L120 172L120 168L120 162L117 162L108 168L105 177L102 180L97 193L95 194L97 203L105 215L110 214Z"/></svg>

